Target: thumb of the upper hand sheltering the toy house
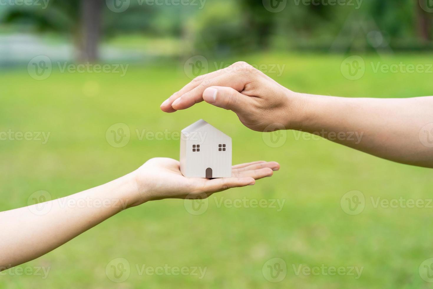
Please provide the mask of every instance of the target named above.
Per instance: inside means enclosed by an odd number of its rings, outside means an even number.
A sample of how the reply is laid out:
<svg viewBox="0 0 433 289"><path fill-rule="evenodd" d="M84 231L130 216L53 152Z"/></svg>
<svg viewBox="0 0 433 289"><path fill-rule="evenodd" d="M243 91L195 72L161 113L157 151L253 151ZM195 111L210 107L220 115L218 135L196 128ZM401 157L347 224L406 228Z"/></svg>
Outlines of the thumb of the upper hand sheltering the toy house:
<svg viewBox="0 0 433 289"><path fill-rule="evenodd" d="M203 92L203 100L217 107L233 110L241 110L250 103L249 96L239 93L236 89L225 86L211 86Z"/></svg>

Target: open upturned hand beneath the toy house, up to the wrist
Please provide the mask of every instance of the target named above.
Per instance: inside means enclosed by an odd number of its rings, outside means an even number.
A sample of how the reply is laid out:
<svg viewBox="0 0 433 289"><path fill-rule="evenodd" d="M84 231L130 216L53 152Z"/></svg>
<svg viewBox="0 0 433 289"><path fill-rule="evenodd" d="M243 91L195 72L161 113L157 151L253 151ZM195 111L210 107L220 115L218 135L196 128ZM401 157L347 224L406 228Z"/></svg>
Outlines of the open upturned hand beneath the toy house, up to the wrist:
<svg viewBox="0 0 433 289"><path fill-rule="evenodd" d="M207 198L229 188L254 185L255 180L270 177L278 169L278 162L257 161L232 166L231 178L189 179L182 175L177 160L154 158L134 173L140 193L139 202L142 203L165 198Z"/></svg>

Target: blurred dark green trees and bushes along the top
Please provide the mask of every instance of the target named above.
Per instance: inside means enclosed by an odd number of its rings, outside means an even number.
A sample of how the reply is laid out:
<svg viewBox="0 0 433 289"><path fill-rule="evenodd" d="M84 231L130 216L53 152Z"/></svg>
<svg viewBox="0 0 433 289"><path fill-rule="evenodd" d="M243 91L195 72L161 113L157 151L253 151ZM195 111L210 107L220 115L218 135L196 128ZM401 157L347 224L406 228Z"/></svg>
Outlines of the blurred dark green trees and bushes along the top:
<svg viewBox="0 0 433 289"><path fill-rule="evenodd" d="M3 6L0 19L15 23L16 29L51 29L74 37L82 26L82 1L51 0L46 10ZM364 41L354 45L355 49L376 48L368 41L369 32L381 38L380 45L395 50L432 48L433 13L422 10L418 1L345 1L351 5L335 5L334 0L308 1L287 1L284 10L278 13L266 10L262 1L256 0L205 1L203 7L200 1L196 1L196 6L158 6L132 0L123 13L113 13L104 4L101 38L125 33L177 37L184 41L180 49L185 54L230 54L275 48L329 51L341 32L351 36L359 26L362 34L356 37ZM344 35L343 39L351 41L351 37Z"/></svg>

